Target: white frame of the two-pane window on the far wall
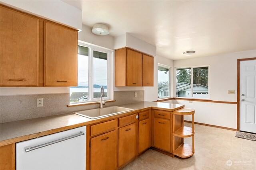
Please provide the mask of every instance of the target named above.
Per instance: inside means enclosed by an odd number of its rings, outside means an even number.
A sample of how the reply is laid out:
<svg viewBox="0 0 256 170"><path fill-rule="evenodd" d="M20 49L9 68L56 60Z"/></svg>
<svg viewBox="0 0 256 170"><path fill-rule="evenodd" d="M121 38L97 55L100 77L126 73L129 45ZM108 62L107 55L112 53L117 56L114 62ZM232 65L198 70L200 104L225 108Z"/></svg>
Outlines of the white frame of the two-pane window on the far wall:
<svg viewBox="0 0 256 170"><path fill-rule="evenodd" d="M193 97L193 68L200 68L200 67L208 67L208 98L197 98ZM190 68L190 97L177 97L177 69L185 69L185 68ZM182 99L200 99L200 100L210 100L210 65L199 65L199 66L182 66L182 67L174 67L174 87L173 87L173 92L175 98L182 98Z"/></svg>

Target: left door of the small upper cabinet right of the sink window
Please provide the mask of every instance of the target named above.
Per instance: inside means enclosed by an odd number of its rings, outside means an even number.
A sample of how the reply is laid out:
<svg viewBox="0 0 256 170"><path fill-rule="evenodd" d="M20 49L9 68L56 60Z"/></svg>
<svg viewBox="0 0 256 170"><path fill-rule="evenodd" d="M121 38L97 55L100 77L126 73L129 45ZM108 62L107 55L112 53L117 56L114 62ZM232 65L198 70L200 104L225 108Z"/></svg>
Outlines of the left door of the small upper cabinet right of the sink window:
<svg viewBox="0 0 256 170"><path fill-rule="evenodd" d="M126 51L126 85L142 86L142 53Z"/></svg>

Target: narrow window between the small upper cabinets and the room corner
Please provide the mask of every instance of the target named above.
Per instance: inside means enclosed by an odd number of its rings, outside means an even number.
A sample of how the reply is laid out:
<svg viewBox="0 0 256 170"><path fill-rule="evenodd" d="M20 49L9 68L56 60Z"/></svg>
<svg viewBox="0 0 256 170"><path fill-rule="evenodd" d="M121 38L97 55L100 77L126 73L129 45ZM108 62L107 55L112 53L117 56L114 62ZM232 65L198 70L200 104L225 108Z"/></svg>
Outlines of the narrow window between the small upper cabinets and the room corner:
<svg viewBox="0 0 256 170"><path fill-rule="evenodd" d="M170 68L158 65L158 98L170 97Z"/></svg>

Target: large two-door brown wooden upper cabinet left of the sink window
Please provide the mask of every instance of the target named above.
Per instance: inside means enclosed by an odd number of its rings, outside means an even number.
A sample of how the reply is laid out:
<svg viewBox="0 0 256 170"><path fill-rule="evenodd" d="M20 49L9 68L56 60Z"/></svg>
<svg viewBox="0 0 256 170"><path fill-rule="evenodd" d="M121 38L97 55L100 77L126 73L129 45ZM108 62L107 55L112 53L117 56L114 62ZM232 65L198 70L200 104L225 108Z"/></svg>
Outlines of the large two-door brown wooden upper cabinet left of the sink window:
<svg viewBox="0 0 256 170"><path fill-rule="evenodd" d="M77 86L77 33L0 5L0 86Z"/></svg>

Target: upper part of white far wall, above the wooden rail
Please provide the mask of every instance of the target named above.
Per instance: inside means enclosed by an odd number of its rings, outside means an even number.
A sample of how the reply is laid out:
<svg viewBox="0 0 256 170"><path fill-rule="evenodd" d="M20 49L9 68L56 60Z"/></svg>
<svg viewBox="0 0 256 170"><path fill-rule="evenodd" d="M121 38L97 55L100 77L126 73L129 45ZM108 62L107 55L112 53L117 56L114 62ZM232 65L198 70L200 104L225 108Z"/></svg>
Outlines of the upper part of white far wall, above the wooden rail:
<svg viewBox="0 0 256 170"><path fill-rule="evenodd" d="M210 57L175 60L174 68L209 64L210 100L236 102L237 59L256 57L256 50L241 51ZM175 78L175 73L174 73ZM235 94L228 94L235 90Z"/></svg>

